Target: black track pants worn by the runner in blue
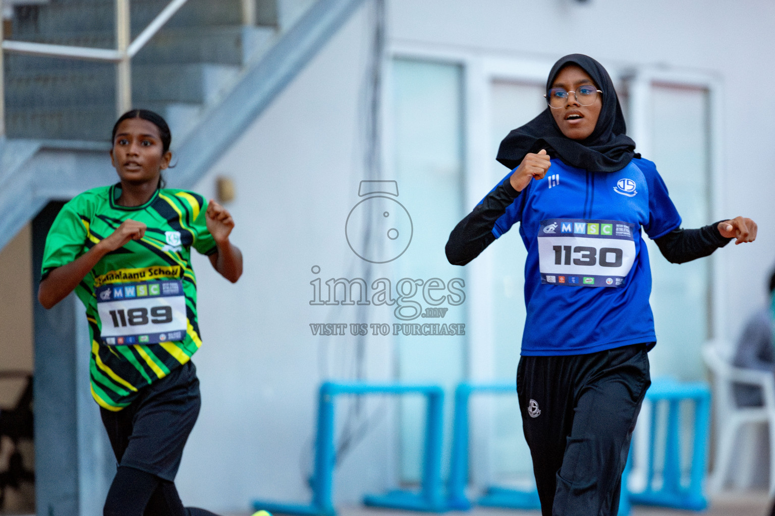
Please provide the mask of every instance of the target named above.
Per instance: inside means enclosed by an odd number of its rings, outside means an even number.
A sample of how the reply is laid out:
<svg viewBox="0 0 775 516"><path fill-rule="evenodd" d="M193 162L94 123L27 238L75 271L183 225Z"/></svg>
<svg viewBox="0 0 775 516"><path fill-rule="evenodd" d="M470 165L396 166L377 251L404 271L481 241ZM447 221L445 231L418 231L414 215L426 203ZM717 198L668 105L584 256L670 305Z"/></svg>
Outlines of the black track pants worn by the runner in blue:
<svg viewBox="0 0 775 516"><path fill-rule="evenodd" d="M649 344L522 357L517 393L543 516L615 516Z"/></svg>

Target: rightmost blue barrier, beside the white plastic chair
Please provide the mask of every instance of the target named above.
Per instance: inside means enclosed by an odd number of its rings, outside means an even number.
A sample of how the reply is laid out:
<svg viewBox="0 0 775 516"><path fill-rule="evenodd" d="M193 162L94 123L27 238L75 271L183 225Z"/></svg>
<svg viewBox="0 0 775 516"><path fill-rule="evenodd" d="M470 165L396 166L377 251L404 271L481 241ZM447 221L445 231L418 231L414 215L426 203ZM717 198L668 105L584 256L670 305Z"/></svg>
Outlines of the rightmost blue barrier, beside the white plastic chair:
<svg viewBox="0 0 775 516"><path fill-rule="evenodd" d="M660 379L654 381L646 392L646 400L653 403L649 458L646 465L646 490L631 493L631 501L636 504L702 511L708 507L708 501L702 492L711 414L711 391L708 385L700 382L679 383L672 379ZM686 400L694 402L694 446L689 484L684 487L681 484L680 470L679 404ZM660 487L655 488L656 407L659 403L668 405L667 432Z"/></svg>

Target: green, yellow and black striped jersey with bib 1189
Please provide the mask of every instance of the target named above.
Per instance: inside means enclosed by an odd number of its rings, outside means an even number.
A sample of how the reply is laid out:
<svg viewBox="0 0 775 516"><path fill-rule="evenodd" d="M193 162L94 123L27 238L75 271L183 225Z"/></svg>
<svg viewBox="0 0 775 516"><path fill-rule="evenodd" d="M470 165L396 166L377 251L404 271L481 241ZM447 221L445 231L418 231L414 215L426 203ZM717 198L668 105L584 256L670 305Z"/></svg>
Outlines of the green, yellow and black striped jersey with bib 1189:
<svg viewBox="0 0 775 516"><path fill-rule="evenodd" d="M120 184L76 196L57 215L43 253L43 277L84 255L124 220L145 236L105 255L75 292L86 306L91 337L91 395L119 411L138 389L185 364L202 345L191 248L216 251L197 193L161 189L142 206L115 203Z"/></svg>

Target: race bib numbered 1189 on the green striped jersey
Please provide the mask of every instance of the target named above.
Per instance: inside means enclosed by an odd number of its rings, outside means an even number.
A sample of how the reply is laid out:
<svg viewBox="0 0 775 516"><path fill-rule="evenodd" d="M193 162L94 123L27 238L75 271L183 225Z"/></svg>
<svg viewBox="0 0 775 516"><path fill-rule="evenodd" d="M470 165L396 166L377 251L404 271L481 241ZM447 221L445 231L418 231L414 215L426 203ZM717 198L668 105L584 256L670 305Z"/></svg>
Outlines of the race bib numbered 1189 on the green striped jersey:
<svg viewBox="0 0 775 516"><path fill-rule="evenodd" d="M188 327L179 279L102 285L97 310L102 343L109 346L183 340Z"/></svg>

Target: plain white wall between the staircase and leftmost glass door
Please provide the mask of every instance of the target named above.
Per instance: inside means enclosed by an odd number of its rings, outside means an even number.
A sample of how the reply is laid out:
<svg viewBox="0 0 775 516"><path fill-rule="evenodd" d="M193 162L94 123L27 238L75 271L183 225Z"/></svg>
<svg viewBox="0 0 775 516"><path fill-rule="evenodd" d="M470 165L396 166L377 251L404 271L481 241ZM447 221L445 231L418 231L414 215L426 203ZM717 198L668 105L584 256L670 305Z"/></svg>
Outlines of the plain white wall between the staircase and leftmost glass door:
<svg viewBox="0 0 775 516"><path fill-rule="evenodd" d="M309 282L360 275L344 226L363 179L369 19L369 9L356 13L195 188L212 197L216 176L234 179L227 207L245 272L231 285L206 258L195 260L202 412L177 477L185 504L236 510L256 497L309 500L301 471L312 463L316 390L324 378L348 378L354 340L312 337L308 325L356 320L310 306ZM368 377L390 378L389 343L367 350ZM387 484L387 439L379 427L347 456L336 476L340 500Z"/></svg>

